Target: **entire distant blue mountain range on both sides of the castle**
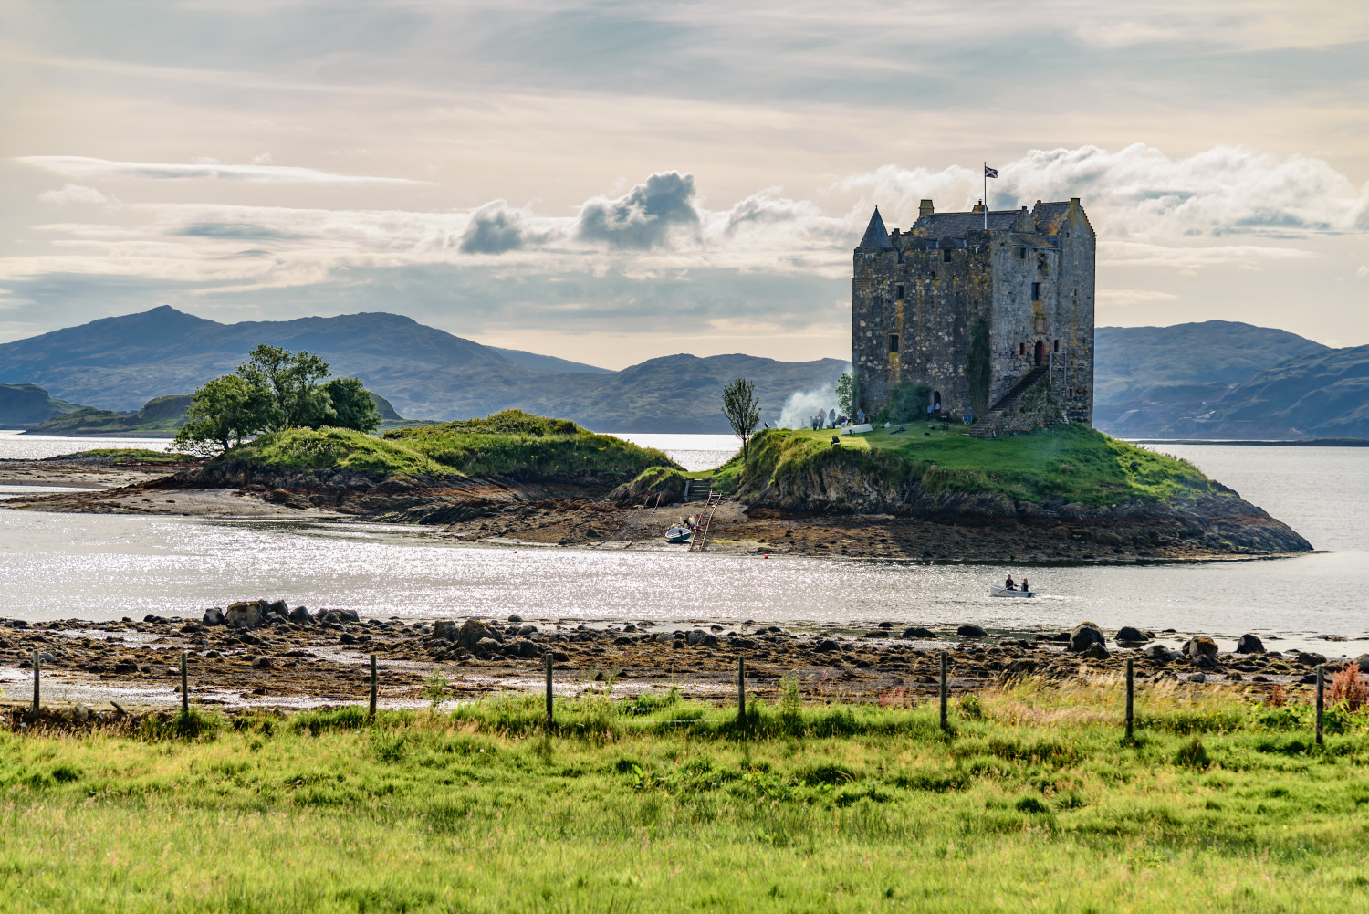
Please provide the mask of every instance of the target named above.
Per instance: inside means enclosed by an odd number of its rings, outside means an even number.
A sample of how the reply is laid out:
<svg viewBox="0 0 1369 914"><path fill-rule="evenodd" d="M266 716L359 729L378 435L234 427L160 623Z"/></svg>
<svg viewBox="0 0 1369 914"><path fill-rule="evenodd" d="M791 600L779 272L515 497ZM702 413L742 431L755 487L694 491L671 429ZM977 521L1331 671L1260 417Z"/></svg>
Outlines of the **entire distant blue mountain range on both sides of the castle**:
<svg viewBox="0 0 1369 914"><path fill-rule="evenodd" d="M726 433L719 395L738 377L756 382L773 423L790 395L831 392L846 367L671 355L612 371L481 345L394 314L218 323L160 307L0 345L0 428L86 404L125 414L73 415L53 429L141 429L153 412L168 418L168 402L149 400L231 371L259 343L316 352L409 418L517 407L604 432ZM1094 423L1125 437L1369 439L1369 347L1331 349L1231 321L1099 328Z"/></svg>

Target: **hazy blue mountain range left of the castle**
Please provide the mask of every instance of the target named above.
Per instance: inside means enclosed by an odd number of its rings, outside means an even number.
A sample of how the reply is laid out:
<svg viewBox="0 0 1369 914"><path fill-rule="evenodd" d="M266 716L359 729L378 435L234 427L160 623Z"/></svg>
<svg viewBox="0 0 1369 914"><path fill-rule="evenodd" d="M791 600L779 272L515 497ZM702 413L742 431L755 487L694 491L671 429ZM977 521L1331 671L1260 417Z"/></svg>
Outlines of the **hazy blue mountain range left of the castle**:
<svg viewBox="0 0 1369 914"><path fill-rule="evenodd" d="M756 384L763 417L773 422L790 395L834 391L846 367L839 359L672 355L611 371L481 345L396 314L218 323L163 306L3 344L0 384L38 385L44 396L73 404L131 411L231 371L260 343L323 356L335 374L360 377L409 418L517 407L604 432L727 432L720 395L738 377ZM0 426L14 426L4 399ZM835 406L835 393L831 400Z"/></svg>

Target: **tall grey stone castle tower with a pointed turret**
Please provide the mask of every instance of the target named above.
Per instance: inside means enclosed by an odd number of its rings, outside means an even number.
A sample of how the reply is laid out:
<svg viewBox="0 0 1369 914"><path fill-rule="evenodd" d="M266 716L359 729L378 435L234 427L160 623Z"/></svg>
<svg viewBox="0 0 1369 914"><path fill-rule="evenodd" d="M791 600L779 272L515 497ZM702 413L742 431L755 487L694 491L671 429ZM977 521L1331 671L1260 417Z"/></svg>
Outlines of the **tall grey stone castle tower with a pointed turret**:
<svg viewBox="0 0 1369 914"><path fill-rule="evenodd" d="M987 214L923 200L906 233L876 207L854 256L856 403L876 415L913 397L919 415L973 414L979 436L1091 425L1094 263L1079 197Z"/></svg>

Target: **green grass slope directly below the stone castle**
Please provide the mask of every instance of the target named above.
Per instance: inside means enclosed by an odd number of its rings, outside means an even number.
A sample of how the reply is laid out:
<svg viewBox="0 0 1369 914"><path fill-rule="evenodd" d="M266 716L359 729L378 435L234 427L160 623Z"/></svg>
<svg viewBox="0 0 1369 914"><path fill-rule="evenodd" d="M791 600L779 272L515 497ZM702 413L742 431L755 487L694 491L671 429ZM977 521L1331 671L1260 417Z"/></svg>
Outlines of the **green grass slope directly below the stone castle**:
<svg viewBox="0 0 1369 914"><path fill-rule="evenodd" d="M836 465L887 482L916 481L925 492L988 492L1086 506L1227 493L1187 460L1077 422L999 439L971 437L957 425L946 432L927 423L905 428L902 434L894 429L842 434L841 445L832 445L831 430L763 430L752 440L750 460L738 455L716 477L745 493L771 480L816 477Z"/></svg>

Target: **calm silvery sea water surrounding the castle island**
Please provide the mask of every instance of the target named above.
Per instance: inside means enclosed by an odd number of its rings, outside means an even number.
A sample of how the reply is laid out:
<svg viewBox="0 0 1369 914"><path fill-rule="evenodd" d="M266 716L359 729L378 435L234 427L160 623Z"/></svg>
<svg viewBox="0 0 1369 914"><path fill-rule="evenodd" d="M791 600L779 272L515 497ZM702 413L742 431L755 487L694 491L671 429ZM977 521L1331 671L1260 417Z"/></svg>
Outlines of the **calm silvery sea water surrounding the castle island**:
<svg viewBox="0 0 1369 914"><path fill-rule="evenodd" d="M728 451L716 441L671 444L682 447L669 449L724 459ZM5 447L8 440L0 437L0 456L7 456ZM314 608L413 618L517 613L535 619L754 619L853 628L887 619L973 622L1024 633L1092 619L1105 628L1173 628L1221 637L1255 632L1279 639L1270 647L1310 645L1328 654L1369 650L1365 643L1328 644L1316 637L1369 637L1362 596L1369 571L1369 449L1157 449L1195 462L1331 551L1258 562L1027 569L1043 596L999 600L987 596L990 582L1008 571L1020 577L1024 569L631 549L513 551L450 545L381 525L0 508L0 615L137 618L271 596Z"/></svg>

